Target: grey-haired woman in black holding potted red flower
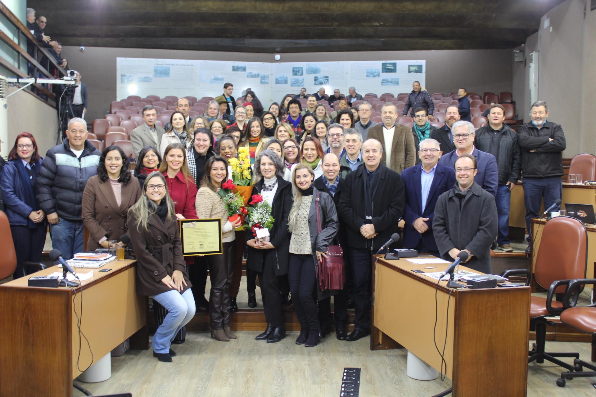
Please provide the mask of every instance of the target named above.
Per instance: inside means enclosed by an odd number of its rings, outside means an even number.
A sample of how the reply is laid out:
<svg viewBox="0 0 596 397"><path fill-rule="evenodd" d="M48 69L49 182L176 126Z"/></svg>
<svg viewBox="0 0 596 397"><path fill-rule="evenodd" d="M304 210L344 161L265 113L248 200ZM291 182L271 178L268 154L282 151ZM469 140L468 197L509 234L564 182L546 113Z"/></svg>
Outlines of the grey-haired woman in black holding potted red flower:
<svg viewBox="0 0 596 397"><path fill-rule="evenodd" d="M269 237L258 239L253 235L253 228L246 228L246 244L249 246L248 268L257 272L263 294L263 307L267 320L267 329L256 340L268 343L280 342L285 337L282 316L282 298L280 276L288 273L288 250L290 233L288 232L288 214L292 206L291 183L284 180L284 164L275 152L266 150L259 154L254 162L254 173L259 182L253 186L252 201L249 206L263 210L263 204L271 207L274 218ZM251 204L252 203L252 204ZM249 215L250 224L251 215Z"/></svg>

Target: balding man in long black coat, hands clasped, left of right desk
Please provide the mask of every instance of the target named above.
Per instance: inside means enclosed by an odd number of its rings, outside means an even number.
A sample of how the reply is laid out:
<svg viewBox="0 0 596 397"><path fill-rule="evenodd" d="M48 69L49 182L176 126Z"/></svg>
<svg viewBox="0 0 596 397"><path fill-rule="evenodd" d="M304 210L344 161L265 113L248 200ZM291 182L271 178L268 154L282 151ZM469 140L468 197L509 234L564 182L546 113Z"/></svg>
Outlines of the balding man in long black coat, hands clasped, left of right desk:
<svg viewBox="0 0 596 397"><path fill-rule="evenodd" d="M346 225L347 254L354 279L354 330L346 340L370 334L371 258L398 231L405 207L405 187L398 173L381 164L383 145L362 144L364 164L347 174L338 214Z"/></svg>

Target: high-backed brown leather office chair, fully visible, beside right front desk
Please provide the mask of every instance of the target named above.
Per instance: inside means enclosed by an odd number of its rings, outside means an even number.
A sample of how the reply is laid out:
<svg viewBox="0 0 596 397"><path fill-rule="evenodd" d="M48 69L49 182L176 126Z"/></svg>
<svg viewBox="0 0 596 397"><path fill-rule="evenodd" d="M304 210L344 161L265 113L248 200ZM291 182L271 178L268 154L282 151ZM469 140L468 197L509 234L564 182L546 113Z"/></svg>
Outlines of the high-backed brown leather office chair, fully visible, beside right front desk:
<svg viewBox="0 0 596 397"><path fill-rule="evenodd" d="M573 370L573 365L558 360L557 357L579 358L579 353L545 352L547 325L555 325L545 317L563 312L563 293L573 279L585 278L587 260L588 234L581 221L572 217L556 217L547 221L542 229L540 249L536 254L534 280L539 286L548 288L548 295L547 298L532 296L530 299L530 330L536 332L536 343L532 343L528 362L542 364L544 360L548 360L569 371ZM527 269L506 270L501 276L514 274L526 274L526 285L532 276Z"/></svg>

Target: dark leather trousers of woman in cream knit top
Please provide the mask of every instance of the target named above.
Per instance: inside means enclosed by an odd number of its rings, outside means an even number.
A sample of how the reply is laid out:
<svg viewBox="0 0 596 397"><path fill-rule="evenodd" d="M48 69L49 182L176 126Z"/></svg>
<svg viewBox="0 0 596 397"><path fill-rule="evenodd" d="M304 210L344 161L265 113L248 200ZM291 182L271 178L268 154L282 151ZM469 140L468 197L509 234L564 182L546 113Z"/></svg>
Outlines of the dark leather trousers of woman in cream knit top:
<svg viewBox="0 0 596 397"><path fill-rule="evenodd" d="M221 330L229 327L229 287L234 276L236 242L223 243L222 255L207 257L211 292L209 293L209 317L211 328Z"/></svg>

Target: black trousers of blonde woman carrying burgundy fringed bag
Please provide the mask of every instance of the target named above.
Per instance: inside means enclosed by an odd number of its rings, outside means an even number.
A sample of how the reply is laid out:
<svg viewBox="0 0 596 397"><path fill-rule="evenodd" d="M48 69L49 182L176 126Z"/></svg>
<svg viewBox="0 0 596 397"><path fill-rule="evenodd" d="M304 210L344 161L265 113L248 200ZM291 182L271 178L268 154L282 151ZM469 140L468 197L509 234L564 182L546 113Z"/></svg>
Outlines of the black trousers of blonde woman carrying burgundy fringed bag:
<svg viewBox="0 0 596 397"><path fill-rule="evenodd" d="M318 332L320 327L316 307L316 271L312 255L290 254L288 282L300 328Z"/></svg>

